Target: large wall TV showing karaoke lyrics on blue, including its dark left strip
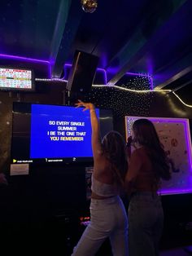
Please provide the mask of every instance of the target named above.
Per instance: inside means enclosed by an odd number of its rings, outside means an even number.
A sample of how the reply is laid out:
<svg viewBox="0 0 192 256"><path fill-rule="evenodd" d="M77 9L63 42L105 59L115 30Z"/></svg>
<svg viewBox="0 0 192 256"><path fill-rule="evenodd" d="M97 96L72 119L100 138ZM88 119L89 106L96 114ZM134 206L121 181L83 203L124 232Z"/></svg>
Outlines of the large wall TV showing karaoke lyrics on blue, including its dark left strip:
<svg viewBox="0 0 192 256"><path fill-rule="evenodd" d="M102 136L112 112L96 108ZM93 161L89 111L62 105L13 104L11 162Z"/></svg>

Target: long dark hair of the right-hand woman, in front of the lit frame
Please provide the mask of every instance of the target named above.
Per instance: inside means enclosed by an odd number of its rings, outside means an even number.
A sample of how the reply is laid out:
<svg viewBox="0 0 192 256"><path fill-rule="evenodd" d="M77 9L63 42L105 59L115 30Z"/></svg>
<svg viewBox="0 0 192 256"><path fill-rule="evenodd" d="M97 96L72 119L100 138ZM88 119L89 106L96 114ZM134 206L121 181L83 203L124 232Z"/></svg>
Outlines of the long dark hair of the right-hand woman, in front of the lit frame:
<svg viewBox="0 0 192 256"><path fill-rule="evenodd" d="M145 118L138 119L133 123L133 133L133 143L138 143L146 148L155 176L166 180L171 179L168 157L164 152L162 143L159 141L153 123Z"/></svg>

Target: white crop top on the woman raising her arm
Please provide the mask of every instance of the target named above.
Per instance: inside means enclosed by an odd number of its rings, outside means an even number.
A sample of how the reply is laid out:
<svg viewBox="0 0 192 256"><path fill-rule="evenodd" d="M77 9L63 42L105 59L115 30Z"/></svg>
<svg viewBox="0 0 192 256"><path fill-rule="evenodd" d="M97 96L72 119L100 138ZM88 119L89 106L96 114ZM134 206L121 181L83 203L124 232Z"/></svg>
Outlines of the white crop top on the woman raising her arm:
<svg viewBox="0 0 192 256"><path fill-rule="evenodd" d="M98 196L117 196L120 194L119 189L115 184L102 183L91 175L91 191Z"/></svg>

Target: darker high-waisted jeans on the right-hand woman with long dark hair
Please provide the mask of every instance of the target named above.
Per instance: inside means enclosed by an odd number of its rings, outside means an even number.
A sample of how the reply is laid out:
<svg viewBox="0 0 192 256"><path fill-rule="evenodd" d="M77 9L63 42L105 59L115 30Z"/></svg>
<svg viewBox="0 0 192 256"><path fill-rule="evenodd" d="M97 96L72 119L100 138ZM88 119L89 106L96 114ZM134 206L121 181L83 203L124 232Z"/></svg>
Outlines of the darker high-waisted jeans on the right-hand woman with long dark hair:
<svg viewBox="0 0 192 256"><path fill-rule="evenodd" d="M136 192L129 203L129 256L158 256L164 212L160 196Z"/></svg>

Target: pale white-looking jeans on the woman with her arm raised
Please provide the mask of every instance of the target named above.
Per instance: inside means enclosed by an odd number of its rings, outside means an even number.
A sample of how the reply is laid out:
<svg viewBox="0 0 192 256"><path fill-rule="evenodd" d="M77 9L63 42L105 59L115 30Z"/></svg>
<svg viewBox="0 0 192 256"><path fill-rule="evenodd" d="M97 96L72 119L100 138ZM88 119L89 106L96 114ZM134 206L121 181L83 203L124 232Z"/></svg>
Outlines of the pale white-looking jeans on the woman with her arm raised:
<svg viewBox="0 0 192 256"><path fill-rule="evenodd" d="M128 219L120 196L91 199L90 223L72 256L93 256L109 237L114 256L128 255Z"/></svg>

